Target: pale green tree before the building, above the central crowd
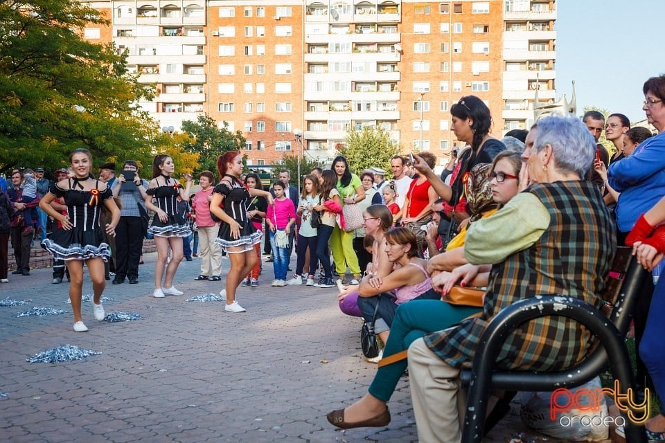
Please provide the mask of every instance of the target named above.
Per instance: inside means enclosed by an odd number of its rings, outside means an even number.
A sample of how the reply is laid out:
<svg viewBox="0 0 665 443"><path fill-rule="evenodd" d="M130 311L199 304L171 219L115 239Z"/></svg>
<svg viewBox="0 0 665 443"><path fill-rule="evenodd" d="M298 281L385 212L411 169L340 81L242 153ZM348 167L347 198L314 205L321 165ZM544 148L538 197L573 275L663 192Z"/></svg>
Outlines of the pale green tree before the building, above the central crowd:
<svg viewBox="0 0 665 443"><path fill-rule="evenodd" d="M351 129L346 134L346 146L338 150L339 155L346 157L351 172L360 174L364 169L373 166L386 170L391 175L390 159L400 153L400 148L390 138L390 134L382 127L364 127L360 130Z"/></svg>

